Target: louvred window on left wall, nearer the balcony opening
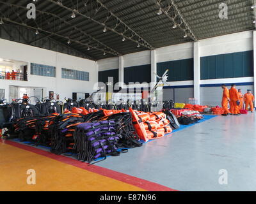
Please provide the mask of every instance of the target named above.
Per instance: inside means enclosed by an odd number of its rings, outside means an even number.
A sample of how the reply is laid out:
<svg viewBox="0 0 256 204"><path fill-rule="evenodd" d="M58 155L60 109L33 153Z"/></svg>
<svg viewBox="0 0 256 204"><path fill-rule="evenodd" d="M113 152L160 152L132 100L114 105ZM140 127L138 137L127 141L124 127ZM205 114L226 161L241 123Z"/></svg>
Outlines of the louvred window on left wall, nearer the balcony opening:
<svg viewBox="0 0 256 204"><path fill-rule="evenodd" d="M31 75L44 77L56 77L56 67L44 64L31 63Z"/></svg>

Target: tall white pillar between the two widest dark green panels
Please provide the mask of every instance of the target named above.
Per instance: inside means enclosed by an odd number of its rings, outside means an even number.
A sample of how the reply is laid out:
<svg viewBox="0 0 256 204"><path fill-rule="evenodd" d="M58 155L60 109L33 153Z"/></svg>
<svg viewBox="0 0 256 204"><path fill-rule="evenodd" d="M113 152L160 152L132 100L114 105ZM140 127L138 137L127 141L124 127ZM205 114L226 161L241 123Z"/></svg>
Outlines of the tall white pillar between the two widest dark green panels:
<svg viewBox="0 0 256 204"><path fill-rule="evenodd" d="M200 43L194 43L194 98L200 105Z"/></svg>

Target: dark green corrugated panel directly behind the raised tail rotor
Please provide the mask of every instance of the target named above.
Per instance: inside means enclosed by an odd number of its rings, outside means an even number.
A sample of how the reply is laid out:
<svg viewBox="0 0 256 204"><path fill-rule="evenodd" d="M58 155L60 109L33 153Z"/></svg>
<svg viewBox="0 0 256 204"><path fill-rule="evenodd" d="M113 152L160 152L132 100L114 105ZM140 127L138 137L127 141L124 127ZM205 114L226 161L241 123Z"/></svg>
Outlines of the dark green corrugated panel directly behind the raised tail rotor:
<svg viewBox="0 0 256 204"><path fill-rule="evenodd" d="M193 59L157 63L157 75L161 77L166 69L169 69L168 82L188 81L194 79Z"/></svg>

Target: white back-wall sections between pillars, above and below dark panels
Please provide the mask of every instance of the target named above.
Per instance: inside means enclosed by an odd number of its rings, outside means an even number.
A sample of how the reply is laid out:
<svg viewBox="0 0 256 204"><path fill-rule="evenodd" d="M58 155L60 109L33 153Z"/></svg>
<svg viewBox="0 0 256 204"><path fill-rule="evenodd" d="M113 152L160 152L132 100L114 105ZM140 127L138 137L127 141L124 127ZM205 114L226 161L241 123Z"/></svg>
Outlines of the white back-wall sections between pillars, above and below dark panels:
<svg viewBox="0 0 256 204"><path fill-rule="evenodd" d="M253 50L253 31L227 34L199 41L200 57L228 54L233 52L244 52ZM156 49L156 62L175 61L194 57L193 42L171 45ZM114 65L118 68L118 57L98 61L99 70L107 70ZM150 51L136 52L124 55L124 67L151 64ZM214 80L200 80L200 84L230 84L254 82L253 77L245 78L223 78ZM193 81L169 82L171 86L193 85ZM140 87L136 85L134 87ZM199 89L199 86L198 86ZM198 90L200 91L200 90ZM180 92L182 94L182 92Z"/></svg>

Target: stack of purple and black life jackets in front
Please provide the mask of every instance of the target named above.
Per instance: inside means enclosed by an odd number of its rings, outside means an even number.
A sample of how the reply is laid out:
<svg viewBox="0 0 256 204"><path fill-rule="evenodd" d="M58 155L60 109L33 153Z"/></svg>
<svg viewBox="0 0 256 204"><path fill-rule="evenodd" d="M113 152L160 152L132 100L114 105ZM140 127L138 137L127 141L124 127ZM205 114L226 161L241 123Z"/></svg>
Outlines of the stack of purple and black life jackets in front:
<svg viewBox="0 0 256 204"><path fill-rule="evenodd" d="M74 133L77 160L92 163L101 157L106 159L107 156L119 156L119 136L116 134L115 126L116 123L111 120L79 124Z"/></svg>

